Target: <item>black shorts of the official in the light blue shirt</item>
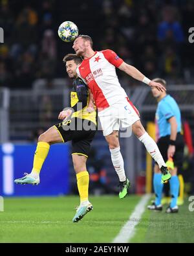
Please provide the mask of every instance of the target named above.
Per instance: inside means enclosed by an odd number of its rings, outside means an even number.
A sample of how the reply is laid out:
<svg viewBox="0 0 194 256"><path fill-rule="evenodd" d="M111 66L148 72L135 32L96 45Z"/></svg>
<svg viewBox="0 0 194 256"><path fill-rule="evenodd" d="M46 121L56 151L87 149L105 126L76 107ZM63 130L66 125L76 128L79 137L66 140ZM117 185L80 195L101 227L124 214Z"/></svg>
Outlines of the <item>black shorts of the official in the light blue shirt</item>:
<svg viewBox="0 0 194 256"><path fill-rule="evenodd" d="M164 161L167 161L167 148L169 147L169 137L170 135L167 135L165 137L160 137L158 139L158 148L160 150L160 153L162 154L162 157L164 158ZM177 133L177 139L176 139L176 149L175 149L175 155L173 156L173 161L175 163L175 167L179 170L179 173L182 171L182 162L183 162L183 156L184 156L184 138L180 134L180 132Z"/></svg>

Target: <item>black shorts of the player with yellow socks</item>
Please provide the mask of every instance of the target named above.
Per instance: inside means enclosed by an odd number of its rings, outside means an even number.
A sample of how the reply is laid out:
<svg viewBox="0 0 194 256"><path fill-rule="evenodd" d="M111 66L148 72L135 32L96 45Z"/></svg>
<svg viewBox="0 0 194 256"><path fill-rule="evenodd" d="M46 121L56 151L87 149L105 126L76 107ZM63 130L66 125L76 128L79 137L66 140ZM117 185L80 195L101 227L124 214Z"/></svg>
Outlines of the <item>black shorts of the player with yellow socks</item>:
<svg viewBox="0 0 194 256"><path fill-rule="evenodd" d="M72 142L72 154L88 157L92 139L96 134L96 125L93 122L72 118L56 124L55 127L63 138L63 142Z"/></svg>

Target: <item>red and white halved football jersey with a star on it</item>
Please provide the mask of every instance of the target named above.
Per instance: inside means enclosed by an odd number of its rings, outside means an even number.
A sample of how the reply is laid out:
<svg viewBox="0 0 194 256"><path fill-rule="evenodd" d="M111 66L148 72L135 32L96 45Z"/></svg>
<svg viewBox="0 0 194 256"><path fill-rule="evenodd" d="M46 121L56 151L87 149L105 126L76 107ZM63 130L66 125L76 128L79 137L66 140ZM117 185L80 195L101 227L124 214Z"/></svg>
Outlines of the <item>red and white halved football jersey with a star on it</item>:
<svg viewBox="0 0 194 256"><path fill-rule="evenodd" d="M105 50L96 51L91 58L83 60L78 67L78 76L91 89L98 109L123 102L127 97L125 90L120 86L115 69L123 62L124 60L114 51Z"/></svg>

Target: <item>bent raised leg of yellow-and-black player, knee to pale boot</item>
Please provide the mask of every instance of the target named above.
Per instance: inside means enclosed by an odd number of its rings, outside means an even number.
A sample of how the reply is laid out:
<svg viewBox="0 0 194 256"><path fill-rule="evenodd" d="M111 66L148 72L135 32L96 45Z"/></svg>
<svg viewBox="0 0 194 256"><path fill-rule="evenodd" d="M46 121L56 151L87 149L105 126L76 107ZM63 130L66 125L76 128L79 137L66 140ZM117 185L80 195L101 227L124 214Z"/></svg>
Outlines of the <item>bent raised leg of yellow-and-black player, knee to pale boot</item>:
<svg viewBox="0 0 194 256"><path fill-rule="evenodd" d="M30 174L25 173L23 178L14 180L16 183L20 184L39 184L39 173L47 158L50 145L54 143L63 142L61 135L55 126L50 127L46 132L41 134L38 138L38 145L36 147L36 152L34 153L34 163Z"/></svg>

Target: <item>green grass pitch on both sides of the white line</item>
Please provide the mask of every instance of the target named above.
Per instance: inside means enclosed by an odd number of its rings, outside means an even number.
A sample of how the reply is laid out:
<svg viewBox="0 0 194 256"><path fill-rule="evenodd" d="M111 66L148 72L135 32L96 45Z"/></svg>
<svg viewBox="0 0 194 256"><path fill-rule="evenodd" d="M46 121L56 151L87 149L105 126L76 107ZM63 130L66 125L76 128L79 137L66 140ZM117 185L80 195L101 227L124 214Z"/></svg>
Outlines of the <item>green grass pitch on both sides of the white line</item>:
<svg viewBox="0 0 194 256"><path fill-rule="evenodd" d="M140 196L91 197L94 210L72 223L78 196L5 198L0 213L0 242L112 242ZM129 242L194 242L194 212L188 200L178 214L144 212Z"/></svg>

